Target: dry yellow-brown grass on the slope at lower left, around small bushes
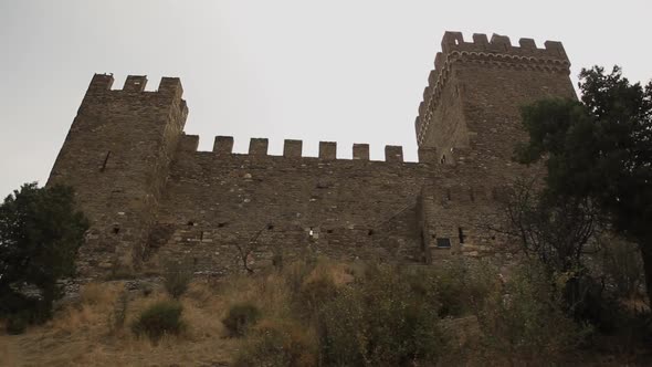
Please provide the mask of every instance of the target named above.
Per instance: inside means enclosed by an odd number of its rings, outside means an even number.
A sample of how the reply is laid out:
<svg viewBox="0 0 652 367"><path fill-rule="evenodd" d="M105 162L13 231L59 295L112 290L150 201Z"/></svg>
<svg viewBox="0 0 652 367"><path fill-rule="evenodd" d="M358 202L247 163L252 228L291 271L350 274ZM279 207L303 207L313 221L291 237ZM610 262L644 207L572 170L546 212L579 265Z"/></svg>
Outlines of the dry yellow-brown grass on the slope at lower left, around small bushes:
<svg viewBox="0 0 652 367"><path fill-rule="evenodd" d="M347 265L319 261L296 262L282 272L261 272L255 276L233 275L219 282L196 280L180 300L187 328L180 335L165 336L156 345L136 337L129 326L147 306L168 297L162 290L148 296L132 292L125 325L114 329L112 314L124 292L124 283L87 284L81 290L77 303L56 312L45 325L30 327L18 336L0 332L0 366L231 364L249 342L225 337L221 319L230 306L251 302L263 311L262 325L286 324L293 318L292 281L301 285L328 276L341 285L353 280L351 273ZM315 337L308 335L311 339Z"/></svg>

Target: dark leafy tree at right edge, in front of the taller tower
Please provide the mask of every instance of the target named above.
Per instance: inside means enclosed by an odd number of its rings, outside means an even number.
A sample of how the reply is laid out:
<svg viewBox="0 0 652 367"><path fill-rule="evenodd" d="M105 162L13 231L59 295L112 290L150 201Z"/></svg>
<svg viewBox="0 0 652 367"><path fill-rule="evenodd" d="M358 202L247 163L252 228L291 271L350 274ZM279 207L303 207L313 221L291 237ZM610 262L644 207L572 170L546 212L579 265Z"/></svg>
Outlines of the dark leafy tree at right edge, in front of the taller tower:
<svg viewBox="0 0 652 367"><path fill-rule="evenodd" d="M614 66L582 70L581 101L523 108L530 140L520 162L545 159L545 193L590 200L610 228L639 244L652 300L652 83L630 84Z"/></svg>

